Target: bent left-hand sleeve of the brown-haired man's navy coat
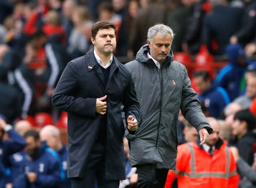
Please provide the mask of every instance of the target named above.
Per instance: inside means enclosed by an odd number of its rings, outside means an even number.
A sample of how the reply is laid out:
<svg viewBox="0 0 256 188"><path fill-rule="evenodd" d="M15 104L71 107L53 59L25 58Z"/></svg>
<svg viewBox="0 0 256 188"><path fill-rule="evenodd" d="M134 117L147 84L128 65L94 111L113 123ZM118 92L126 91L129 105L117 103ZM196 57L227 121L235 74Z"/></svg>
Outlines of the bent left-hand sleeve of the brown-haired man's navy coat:
<svg viewBox="0 0 256 188"><path fill-rule="evenodd" d="M52 104L69 113L89 118L96 117L96 98L76 97L78 74L72 62L68 63L52 96Z"/></svg>

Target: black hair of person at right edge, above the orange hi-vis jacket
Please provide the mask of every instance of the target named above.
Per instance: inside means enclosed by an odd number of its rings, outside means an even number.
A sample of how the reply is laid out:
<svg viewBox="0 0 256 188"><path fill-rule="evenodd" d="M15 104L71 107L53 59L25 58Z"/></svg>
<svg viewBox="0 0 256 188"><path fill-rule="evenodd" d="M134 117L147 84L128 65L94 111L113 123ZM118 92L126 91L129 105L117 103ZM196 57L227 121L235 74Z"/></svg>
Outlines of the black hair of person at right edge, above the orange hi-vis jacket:
<svg viewBox="0 0 256 188"><path fill-rule="evenodd" d="M248 109L236 112L234 120L245 121L247 130L253 130L256 127L256 118Z"/></svg>

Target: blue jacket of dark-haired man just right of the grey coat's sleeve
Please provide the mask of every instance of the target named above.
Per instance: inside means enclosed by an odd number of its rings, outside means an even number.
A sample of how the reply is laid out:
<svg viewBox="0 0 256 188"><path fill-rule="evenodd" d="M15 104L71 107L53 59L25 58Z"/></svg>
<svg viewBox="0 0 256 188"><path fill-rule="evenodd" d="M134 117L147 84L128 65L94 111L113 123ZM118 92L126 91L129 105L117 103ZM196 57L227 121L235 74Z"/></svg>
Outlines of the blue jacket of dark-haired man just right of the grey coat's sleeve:
<svg viewBox="0 0 256 188"><path fill-rule="evenodd" d="M212 86L198 95L198 100L204 102L204 106L209 110L210 116L214 118L220 118L225 106L230 103L227 92L216 86L215 83Z"/></svg>

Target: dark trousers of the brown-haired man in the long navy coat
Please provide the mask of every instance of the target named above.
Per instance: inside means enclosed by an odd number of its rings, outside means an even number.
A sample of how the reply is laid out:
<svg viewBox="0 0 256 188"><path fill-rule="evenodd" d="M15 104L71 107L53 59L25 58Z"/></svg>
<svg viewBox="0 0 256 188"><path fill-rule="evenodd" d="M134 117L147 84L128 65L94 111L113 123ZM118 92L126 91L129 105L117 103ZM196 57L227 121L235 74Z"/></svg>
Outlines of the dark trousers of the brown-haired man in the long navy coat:
<svg viewBox="0 0 256 188"><path fill-rule="evenodd" d="M98 188L118 188L119 180L105 179L105 145L96 142L90 153L84 177L71 178L72 188L94 188L95 180Z"/></svg>

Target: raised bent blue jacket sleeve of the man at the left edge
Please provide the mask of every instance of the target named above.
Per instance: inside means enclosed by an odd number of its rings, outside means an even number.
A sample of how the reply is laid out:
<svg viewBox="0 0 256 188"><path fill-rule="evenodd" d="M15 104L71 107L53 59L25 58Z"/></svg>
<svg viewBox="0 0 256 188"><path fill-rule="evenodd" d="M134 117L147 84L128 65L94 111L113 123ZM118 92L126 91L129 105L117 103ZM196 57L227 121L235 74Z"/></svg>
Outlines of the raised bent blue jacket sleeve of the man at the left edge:
<svg viewBox="0 0 256 188"><path fill-rule="evenodd" d="M21 151L26 146L26 140L13 129L9 130L7 133L10 138L10 140L6 142L8 148L7 155L11 156L16 152Z"/></svg>

